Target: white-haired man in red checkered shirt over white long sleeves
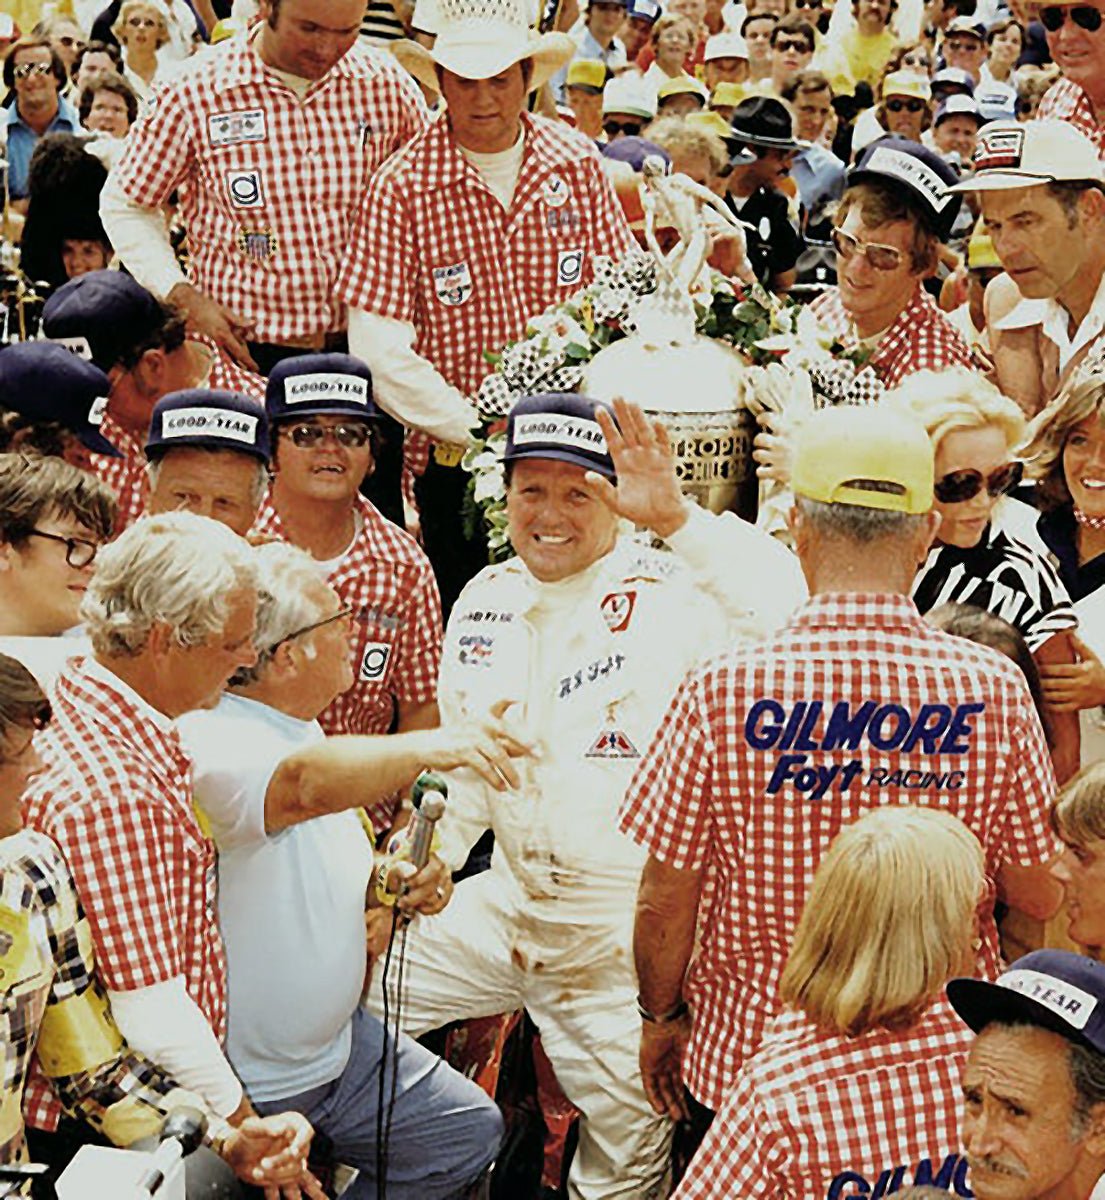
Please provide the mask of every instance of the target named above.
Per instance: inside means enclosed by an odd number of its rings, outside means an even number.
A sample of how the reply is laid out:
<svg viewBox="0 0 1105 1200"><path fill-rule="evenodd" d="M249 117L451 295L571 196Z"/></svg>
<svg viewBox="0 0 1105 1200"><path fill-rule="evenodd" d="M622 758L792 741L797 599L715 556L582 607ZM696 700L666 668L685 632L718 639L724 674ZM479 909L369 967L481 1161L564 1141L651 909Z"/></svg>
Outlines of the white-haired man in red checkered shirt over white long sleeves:
<svg viewBox="0 0 1105 1200"><path fill-rule="evenodd" d="M214 703L257 656L251 556L187 512L146 517L100 553L80 608L92 654L58 680L44 770L25 799L28 824L70 864L120 1032L232 1124L253 1109L222 1051L215 847L173 719ZM24 1111L58 1128L42 1076Z"/></svg>

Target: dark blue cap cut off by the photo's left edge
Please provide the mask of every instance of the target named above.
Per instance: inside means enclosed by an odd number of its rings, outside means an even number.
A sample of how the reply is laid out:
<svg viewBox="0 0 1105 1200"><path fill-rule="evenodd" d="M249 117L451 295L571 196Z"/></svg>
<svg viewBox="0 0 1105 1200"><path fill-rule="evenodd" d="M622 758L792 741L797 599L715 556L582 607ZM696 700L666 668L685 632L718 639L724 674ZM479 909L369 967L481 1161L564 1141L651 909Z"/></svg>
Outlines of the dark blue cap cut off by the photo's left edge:
<svg viewBox="0 0 1105 1200"><path fill-rule="evenodd" d="M64 346L17 342L0 350L0 408L32 421L58 421L96 454L122 455L100 432L108 407L108 377Z"/></svg>

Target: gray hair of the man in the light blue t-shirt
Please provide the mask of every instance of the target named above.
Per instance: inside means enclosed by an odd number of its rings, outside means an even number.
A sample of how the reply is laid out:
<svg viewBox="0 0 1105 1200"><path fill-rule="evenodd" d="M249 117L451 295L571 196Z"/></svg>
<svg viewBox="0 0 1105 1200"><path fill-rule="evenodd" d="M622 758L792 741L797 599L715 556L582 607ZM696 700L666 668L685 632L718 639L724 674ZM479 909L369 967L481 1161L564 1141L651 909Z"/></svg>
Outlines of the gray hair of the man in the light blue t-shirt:
<svg viewBox="0 0 1105 1200"><path fill-rule="evenodd" d="M319 563L298 546L268 542L253 552L257 568L257 661L230 677L230 688L245 688L265 673L276 647L318 620L326 604L326 578Z"/></svg>

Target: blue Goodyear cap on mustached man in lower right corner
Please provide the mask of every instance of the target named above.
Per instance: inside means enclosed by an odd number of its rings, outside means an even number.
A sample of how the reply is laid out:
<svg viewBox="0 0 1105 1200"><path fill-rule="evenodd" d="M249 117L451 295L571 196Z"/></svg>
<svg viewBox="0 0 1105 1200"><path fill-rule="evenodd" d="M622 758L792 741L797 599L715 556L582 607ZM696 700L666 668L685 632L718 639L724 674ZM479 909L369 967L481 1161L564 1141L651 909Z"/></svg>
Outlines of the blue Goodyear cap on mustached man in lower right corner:
<svg viewBox="0 0 1105 1200"><path fill-rule="evenodd" d="M975 1033L991 1021L1027 1021L1105 1054L1105 964L1073 950L1033 950L997 983L953 979L948 1000Z"/></svg>

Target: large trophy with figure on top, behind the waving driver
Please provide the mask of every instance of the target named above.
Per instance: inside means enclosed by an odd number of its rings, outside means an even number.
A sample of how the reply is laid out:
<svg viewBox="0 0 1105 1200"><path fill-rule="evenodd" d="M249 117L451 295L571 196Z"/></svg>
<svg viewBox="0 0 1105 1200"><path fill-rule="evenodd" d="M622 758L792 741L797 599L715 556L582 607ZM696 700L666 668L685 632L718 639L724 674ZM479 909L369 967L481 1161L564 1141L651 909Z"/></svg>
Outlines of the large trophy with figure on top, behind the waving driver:
<svg viewBox="0 0 1105 1200"><path fill-rule="evenodd" d="M637 298L623 323L626 337L587 364L581 391L641 404L667 426L684 492L713 512L735 509L755 520L752 461L756 419L745 407L749 367L732 346L695 331L695 300L713 296L707 256L720 238L744 233L719 198L685 175L665 174L660 158L644 163L644 238L657 263L656 289ZM678 240L663 251L657 224Z"/></svg>

